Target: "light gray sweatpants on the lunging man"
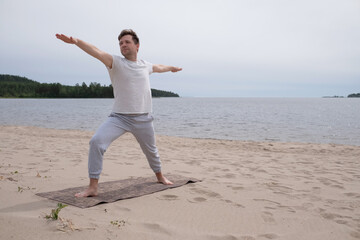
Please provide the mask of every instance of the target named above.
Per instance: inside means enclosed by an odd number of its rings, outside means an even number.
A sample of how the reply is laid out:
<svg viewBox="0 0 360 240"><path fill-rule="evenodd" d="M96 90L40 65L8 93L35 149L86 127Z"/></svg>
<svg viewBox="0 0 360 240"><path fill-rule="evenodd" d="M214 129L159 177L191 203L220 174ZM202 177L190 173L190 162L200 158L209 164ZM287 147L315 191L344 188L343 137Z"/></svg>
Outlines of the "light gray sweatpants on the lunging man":
<svg viewBox="0 0 360 240"><path fill-rule="evenodd" d="M155 173L160 172L161 162L155 144L153 120L151 114L127 115L111 113L90 140L89 178L99 179L106 149L125 132L131 132L135 136L151 169Z"/></svg>

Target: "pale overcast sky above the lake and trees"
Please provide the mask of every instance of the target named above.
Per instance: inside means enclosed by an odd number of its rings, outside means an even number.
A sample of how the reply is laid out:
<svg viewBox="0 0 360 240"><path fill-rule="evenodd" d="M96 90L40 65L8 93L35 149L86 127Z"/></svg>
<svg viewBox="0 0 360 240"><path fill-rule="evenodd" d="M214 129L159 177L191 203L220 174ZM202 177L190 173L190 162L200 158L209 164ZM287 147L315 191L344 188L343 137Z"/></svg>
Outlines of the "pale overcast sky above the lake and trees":
<svg viewBox="0 0 360 240"><path fill-rule="evenodd" d="M322 97L360 92L360 0L0 0L0 74L109 85L106 67L63 33L182 67L151 87L182 97Z"/></svg>

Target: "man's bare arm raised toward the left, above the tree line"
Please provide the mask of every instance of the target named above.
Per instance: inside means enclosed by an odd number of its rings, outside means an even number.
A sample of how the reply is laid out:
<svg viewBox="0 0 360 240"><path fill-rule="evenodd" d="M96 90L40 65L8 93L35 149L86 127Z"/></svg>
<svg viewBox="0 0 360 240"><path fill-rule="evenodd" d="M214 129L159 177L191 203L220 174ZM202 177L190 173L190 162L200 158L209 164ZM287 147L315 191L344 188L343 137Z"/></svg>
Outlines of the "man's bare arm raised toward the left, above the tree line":
<svg viewBox="0 0 360 240"><path fill-rule="evenodd" d="M56 34L56 37L65 43L75 44L80 49L82 49L84 52L93 56L94 58L99 59L102 63L105 64L105 66L107 66L108 68L111 68L113 58L110 54L103 52L100 49L98 49L97 47L95 47L94 45L91 45L90 43L82 41L78 38L68 37L64 34Z"/></svg>

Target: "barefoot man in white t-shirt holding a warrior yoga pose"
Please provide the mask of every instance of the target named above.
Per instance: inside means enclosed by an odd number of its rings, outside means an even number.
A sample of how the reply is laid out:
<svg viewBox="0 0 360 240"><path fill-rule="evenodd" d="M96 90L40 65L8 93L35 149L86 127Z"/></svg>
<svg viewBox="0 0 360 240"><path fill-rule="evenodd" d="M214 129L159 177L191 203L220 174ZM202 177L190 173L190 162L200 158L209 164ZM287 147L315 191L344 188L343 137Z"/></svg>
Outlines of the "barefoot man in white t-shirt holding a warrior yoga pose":
<svg viewBox="0 0 360 240"><path fill-rule="evenodd" d="M161 162L155 144L153 117L151 116L149 75L152 72L178 72L182 69L138 60L139 38L131 29L123 30L118 37L120 51L124 57L110 55L77 38L63 34L56 34L56 37L65 43L75 44L105 64L114 89L112 113L90 140L89 187L75 196L89 197L98 194L103 155L109 145L125 132L131 132L139 142L158 182L173 184L161 173Z"/></svg>

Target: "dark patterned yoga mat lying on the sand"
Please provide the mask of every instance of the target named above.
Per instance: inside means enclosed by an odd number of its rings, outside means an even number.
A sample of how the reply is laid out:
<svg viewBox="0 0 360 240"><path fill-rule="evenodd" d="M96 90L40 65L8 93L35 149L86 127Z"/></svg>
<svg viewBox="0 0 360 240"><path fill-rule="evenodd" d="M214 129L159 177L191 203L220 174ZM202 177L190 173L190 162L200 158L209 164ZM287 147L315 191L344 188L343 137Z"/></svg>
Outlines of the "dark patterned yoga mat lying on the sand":
<svg viewBox="0 0 360 240"><path fill-rule="evenodd" d="M36 195L76 207L88 208L100 203L111 203L122 199L140 197L199 181L197 179L189 179L180 175L168 175L167 177L174 183L173 185L157 183L156 178L154 177L130 178L99 183L99 194L96 197L77 198L74 196L75 193L85 190L87 186L37 193Z"/></svg>

